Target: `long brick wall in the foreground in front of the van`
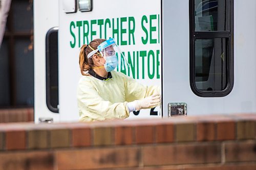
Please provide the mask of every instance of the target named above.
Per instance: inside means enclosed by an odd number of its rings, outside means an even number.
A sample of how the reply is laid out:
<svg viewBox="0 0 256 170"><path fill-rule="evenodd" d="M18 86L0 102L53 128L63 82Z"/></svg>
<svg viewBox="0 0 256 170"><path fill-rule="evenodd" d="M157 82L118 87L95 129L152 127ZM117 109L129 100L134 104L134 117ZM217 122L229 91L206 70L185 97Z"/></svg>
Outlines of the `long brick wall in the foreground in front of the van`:
<svg viewBox="0 0 256 170"><path fill-rule="evenodd" d="M0 169L256 169L256 114L0 124Z"/></svg>

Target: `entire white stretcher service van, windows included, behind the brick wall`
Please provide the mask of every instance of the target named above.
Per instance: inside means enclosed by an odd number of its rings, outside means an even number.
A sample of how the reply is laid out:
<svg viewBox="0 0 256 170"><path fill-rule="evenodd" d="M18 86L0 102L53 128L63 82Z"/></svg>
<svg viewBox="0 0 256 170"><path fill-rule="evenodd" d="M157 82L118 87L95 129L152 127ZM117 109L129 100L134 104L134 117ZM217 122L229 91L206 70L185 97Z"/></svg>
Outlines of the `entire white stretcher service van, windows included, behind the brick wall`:
<svg viewBox="0 0 256 170"><path fill-rule="evenodd" d="M78 120L82 44L115 38L117 71L162 87L129 118L256 113L254 0L34 1L35 122ZM118 55L120 56L120 55Z"/></svg>

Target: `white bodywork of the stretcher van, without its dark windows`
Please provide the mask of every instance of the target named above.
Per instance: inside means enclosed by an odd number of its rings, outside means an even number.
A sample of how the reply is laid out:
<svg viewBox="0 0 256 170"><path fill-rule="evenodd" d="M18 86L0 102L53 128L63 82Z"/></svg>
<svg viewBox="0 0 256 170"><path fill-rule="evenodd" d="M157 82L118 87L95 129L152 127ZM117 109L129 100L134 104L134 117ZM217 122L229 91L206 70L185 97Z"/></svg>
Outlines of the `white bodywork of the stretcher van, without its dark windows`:
<svg viewBox="0 0 256 170"><path fill-rule="evenodd" d="M189 0L95 0L89 12L76 10L78 0L35 0L35 122L40 117L52 117L54 122L78 120L76 89L81 77L80 47L92 39L110 37L116 39L132 63L132 68L121 63L117 71L142 84L162 87L161 108L141 110L138 115L131 113L129 118L170 117L170 106L183 103L187 115L255 113L256 2L234 0L233 6L229 91L223 96L199 96L191 89ZM50 111L46 104L45 41L53 27L58 27L59 113ZM210 73L216 69L212 63ZM214 79L209 74L206 81L197 81L195 86L207 86ZM185 107L182 107L183 114Z"/></svg>

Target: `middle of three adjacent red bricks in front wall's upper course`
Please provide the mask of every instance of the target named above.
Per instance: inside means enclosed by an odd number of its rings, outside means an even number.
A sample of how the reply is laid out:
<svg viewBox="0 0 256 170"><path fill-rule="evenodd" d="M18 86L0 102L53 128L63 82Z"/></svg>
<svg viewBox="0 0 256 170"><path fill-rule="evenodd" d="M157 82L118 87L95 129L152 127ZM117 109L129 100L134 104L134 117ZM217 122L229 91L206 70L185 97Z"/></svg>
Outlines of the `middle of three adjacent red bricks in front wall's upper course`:
<svg viewBox="0 0 256 170"><path fill-rule="evenodd" d="M153 126L136 126L135 141L138 144L154 142L154 127Z"/></svg>

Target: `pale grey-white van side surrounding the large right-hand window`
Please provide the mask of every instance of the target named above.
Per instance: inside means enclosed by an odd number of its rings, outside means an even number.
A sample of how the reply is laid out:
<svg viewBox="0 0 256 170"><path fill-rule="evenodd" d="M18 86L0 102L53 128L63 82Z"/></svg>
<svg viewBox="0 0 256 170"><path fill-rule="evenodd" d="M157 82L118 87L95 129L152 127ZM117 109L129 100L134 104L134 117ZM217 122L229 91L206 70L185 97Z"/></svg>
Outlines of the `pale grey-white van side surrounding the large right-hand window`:
<svg viewBox="0 0 256 170"><path fill-rule="evenodd" d="M202 98L189 85L188 0L163 1L163 114L170 102L188 115L256 112L256 2L234 1L234 86L221 98ZM174 64L175 63L175 64Z"/></svg>

